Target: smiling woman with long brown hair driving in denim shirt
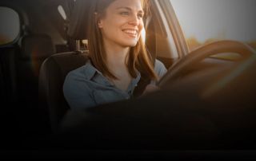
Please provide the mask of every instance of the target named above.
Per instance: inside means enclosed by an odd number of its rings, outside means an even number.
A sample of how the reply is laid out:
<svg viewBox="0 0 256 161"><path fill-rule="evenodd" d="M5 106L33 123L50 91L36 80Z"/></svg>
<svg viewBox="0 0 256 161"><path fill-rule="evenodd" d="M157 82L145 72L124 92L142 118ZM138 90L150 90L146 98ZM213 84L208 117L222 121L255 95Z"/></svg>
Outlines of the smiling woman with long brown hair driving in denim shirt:
<svg viewBox="0 0 256 161"><path fill-rule="evenodd" d="M90 61L71 71L63 86L71 109L130 99L143 77L154 82L166 73L160 61L153 65L142 40L146 0L97 0L91 8L88 48Z"/></svg>

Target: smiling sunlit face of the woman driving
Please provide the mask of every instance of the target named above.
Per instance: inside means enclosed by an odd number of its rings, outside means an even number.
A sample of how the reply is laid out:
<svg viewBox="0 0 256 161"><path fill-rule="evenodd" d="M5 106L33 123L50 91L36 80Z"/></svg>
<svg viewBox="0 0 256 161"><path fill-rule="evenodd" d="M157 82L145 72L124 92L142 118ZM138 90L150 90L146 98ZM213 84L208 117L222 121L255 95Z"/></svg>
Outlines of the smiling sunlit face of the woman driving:
<svg viewBox="0 0 256 161"><path fill-rule="evenodd" d="M105 45L132 47L141 36L143 24L141 0L115 0L98 21Z"/></svg>

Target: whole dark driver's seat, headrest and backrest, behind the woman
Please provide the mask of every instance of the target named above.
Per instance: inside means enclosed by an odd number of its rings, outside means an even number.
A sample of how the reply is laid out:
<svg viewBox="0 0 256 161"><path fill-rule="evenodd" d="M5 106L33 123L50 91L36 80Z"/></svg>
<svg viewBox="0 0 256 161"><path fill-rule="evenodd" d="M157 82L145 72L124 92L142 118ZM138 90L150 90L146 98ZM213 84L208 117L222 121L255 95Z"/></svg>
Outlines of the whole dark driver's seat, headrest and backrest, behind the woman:
<svg viewBox="0 0 256 161"><path fill-rule="evenodd" d="M93 1L78 0L74 2L74 10L70 17L68 35L77 42L75 51L56 53L43 62L39 73L39 107L45 115L51 132L58 130L58 124L67 110L62 85L66 74L73 69L85 65L88 57L86 51L79 49L79 42L86 39L87 12Z"/></svg>

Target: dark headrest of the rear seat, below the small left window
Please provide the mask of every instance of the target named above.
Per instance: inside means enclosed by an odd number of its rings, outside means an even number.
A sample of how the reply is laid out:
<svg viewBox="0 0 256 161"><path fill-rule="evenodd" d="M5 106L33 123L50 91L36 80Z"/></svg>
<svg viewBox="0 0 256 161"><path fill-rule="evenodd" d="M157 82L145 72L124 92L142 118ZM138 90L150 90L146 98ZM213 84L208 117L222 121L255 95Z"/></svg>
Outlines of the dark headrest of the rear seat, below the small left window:
<svg viewBox="0 0 256 161"><path fill-rule="evenodd" d="M54 44L49 35L31 34L22 37L22 58L49 57L54 51Z"/></svg>

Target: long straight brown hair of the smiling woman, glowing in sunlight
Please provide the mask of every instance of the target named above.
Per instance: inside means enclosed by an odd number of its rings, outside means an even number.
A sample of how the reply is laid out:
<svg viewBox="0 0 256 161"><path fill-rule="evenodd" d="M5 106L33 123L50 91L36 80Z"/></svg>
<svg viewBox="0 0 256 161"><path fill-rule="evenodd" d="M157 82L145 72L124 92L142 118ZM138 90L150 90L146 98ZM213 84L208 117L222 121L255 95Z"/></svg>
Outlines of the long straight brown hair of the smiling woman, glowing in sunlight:
<svg viewBox="0 0 256 161"><path fill-rule="evenodd" d="M106 15L106 8L110 6L115 0L94 0L94 5L90 8L90 27L88 29L88 48L90 53L90 60L92 64L98 69L105 77L118 79L110 72L106 65L106 50L103 45L103 38L101 30L98 28L98 20L104 18ZM150 6L148 0L141 0L142 8L145 17L150 16ZM156 80L158 77L154 73L154 65L150 53L146 50L142 36L139 37L137 45L130 47L126 65L131 77L137 77L136 69L142 74L142 77Z"/></svg>

